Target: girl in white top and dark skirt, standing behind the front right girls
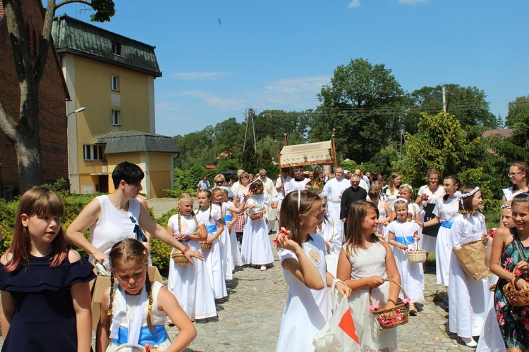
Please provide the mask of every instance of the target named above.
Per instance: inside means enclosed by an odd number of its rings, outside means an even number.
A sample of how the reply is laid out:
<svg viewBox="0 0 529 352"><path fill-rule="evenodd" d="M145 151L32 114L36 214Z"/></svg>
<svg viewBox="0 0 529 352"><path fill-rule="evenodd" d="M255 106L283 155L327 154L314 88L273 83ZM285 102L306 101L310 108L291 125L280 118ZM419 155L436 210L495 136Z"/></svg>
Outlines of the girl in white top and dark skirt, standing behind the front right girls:
<svg viewBox="0 0 529 352"><path fill-rule="evenodd" d="M427 205L436 204L437 199L444 196L444 189L441 185L439 185L439 177L441 177L440 175L441 174L437 169L428 170L426 175L428 179L428 184L420 187L419 191L417 192L417 199L415 200L415 203L420 207L421 222L425 220L425 210ZM419 249L424 249L426 251L427 257L428 253L435 252L435 244L437 242L437 238L434 236L430 236L429 234L422 234L421 231L419 231L419 234Z"/></svg>

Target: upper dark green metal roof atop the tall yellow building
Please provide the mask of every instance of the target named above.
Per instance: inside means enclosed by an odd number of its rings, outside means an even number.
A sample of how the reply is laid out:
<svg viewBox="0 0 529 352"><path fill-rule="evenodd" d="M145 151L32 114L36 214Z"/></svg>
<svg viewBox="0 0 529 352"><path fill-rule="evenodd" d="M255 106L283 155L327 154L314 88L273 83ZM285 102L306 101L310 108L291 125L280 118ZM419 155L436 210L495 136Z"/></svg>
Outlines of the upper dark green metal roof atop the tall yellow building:
<svg viewBox="0 0 529 352"><path fill-rule="evenodd" d="M66 14L54 18L51 36L59 54L70 53L161 77L154 46L90 25ZM113 43L121 54L112 51Z"/></svg>

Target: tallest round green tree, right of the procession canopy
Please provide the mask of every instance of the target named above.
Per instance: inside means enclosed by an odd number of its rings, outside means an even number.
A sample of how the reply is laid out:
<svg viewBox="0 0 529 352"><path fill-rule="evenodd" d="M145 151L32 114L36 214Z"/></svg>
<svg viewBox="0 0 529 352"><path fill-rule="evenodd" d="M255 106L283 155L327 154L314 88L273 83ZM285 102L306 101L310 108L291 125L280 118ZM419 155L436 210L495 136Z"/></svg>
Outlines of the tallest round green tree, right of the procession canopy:
<svg viewBox="0 0 529 352"><path fill-rule="evenodd" d="M311 142L328 139L336 128L339 156L360 162L397 137L409 103L390 69L362 58L338 66L318 98L322 104L313 114Z"/></svg>

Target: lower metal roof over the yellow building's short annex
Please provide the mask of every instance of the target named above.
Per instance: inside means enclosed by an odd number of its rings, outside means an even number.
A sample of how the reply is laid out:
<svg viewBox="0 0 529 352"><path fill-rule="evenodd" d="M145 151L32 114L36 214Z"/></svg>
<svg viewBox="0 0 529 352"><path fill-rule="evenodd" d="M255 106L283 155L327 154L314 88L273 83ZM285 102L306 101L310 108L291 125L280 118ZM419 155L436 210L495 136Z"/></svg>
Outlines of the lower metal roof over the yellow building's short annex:
<svg viewBox="0 0 529 352"><path fill-rule="evenodd" d="M105 154L138 153L142 151L158 151L161 153L180 153L174 139L159 134L140 131L111 132L99 137L96 144L107 144Z"/></svg>

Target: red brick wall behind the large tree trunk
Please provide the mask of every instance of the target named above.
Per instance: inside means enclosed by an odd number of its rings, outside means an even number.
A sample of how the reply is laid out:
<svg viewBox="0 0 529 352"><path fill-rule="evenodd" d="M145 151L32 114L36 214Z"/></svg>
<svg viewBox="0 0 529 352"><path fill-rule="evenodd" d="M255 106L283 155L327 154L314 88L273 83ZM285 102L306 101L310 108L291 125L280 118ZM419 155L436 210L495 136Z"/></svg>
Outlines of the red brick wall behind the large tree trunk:
<svg viewBox="0 0 529 352"><path fill-rule="evenodd" d="M22 1L25 23L37 36L42 31L43 15L39 0ZM38 42L38 40L36 41ZM8 114L18 118L20 90L13 63L13 51L9 41L7 23L0 25L0 97ZM31 51L35 49L32 47ZM46 70L39 87L39 137L44 182L53 182L61 177L68 179L68 144L66 137L66 94L61 70L50 49ZM11 142L0 131L1 179L4 187L18 189L18 166Z"/></svg>

